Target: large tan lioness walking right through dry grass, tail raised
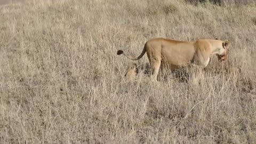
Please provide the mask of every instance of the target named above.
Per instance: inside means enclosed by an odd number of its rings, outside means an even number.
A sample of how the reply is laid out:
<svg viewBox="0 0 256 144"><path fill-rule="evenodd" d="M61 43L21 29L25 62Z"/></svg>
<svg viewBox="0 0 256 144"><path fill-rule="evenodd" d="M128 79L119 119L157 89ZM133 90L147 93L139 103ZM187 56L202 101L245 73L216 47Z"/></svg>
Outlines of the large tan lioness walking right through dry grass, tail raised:
<svg viewBox="0 0 256 144"><path fill-rule="evenodd" d="M209 63L210 56L216 54L218 60L227 59L230 42L219 39L198 39L195 42L182 42L173 39L152 38L146 42L142 53L137 58L126 55L122 50L117 55L124 54L131 60L138 60L147 52L153 79L157 81L157 74L161 66L175 69L194 63L202 68Z"/></svg>

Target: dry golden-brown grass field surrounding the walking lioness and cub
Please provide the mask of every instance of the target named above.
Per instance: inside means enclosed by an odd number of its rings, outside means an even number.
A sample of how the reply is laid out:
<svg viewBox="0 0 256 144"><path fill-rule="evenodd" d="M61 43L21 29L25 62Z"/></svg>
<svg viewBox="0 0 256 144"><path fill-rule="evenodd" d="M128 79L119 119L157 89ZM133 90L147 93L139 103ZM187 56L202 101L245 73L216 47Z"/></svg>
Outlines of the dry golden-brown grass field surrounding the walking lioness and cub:
<svg viewBox="0 0 256 144"><path fill-rule="evenodd" d="M229 39L228 61L213 55L193 81L126 81L134 61L117 50L137 56L153 37ZM253 3L1 5L0 143L256 143L255 63Z"/></svg>

